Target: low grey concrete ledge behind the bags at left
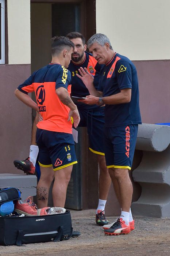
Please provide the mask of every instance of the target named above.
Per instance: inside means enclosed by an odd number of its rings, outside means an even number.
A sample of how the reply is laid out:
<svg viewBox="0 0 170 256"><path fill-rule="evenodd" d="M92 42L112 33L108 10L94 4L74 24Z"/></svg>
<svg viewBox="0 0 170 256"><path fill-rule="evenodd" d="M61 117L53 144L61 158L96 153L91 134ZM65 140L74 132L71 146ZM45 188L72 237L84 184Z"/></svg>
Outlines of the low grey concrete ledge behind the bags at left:
<svg viewBox="0 0 170 256"><path fill-rule="evenodd" d="M22 192L22 201L28 196L36 195L36 184L37 178L35 175L0 173L0 188L19 188Z"/></svg>

